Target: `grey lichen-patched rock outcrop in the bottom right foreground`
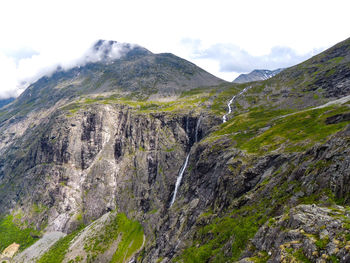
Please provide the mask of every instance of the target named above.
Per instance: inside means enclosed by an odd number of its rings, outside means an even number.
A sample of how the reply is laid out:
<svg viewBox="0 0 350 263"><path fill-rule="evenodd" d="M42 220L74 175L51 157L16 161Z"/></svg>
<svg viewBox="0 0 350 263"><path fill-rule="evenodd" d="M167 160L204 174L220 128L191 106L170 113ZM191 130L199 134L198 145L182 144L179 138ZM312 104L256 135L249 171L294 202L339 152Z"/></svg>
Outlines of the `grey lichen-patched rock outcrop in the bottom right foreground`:
<svg viewBox="0 0 350 263"><path fill-rule="evenodd" d="M299 205L261 227L252 244L267 253L267 262L348 262L349 222L342 206Z"/></svg>

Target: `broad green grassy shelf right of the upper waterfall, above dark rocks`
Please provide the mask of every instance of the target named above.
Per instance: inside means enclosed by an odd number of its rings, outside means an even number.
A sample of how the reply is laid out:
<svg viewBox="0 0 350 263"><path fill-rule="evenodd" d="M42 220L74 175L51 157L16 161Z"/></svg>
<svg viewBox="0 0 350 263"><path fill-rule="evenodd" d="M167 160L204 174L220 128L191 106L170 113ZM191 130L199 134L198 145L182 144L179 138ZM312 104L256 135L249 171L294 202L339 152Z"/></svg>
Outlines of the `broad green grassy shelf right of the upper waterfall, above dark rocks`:
<svg viewBox="0 0 350 263"><path fill-rule="evenodd" d="M236 147L251 153L264 153L282 147L286 152L304 151L342 130L349 121L327 125L325 120L348 111L347 106L330 106L296 113L259 107L234 117L208 139L215 140L228 135L236 142Z"/></svg>

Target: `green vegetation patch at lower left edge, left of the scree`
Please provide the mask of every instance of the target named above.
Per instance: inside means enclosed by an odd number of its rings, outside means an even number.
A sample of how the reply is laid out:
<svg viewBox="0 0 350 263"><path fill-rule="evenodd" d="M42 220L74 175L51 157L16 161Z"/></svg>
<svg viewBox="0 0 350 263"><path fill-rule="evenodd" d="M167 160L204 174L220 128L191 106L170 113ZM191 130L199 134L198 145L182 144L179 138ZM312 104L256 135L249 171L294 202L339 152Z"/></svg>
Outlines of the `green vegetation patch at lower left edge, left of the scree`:
<svg viewBox="0 0 350 263"><path fill-rule="evenodd" d="M31 246L39 238L39 231L33 228L22 228L15 224L14 221L12 215L0 219L0 252L13 242L20 244L20 250L23 250Z"/></svg>

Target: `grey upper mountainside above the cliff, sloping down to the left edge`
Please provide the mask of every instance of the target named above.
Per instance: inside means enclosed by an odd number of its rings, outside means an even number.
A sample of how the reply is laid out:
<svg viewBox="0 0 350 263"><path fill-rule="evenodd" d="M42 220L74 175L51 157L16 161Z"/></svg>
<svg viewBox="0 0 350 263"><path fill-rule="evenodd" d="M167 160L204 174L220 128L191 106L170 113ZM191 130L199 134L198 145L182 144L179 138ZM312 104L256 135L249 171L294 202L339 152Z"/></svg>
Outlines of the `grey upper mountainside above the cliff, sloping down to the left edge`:
<svg viewBox="0 0 350 263"><path fill-rule="evenodd" d="M0 152L30 125L39 125L59 107L77 99L169 100L190 88L224 83L179 57L152 54L138 46L126 45L120 57L111 59L113 56L106 54L115 44L98 41L90 52L95 62L42 77L10 107L0 109Z"/></svg>

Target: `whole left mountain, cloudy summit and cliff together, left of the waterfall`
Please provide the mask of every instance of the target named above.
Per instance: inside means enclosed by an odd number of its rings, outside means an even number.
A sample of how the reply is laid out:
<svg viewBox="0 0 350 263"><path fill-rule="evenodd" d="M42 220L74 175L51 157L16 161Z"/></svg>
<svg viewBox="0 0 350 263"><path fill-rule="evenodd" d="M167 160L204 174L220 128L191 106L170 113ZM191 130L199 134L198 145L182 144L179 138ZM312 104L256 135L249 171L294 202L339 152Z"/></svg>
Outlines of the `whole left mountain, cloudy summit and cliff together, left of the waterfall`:
<svg viewBox="0 0 350 263"><path fill-rule="evenodd" d="M34 229L71 233L65 240L72 240L76 229L118 209L148 222L144 231L151 236L182 156L220 122L206 113L197 127L210 94L182 99L182 92L224 81L172 54L133 48L110 59L108 52L41 78L1 112L0 213L11 214L1 222L26 235ZM119 247L119 235L116 230L106 248ZM23 249L39 236L17 242ZM17 236L5 236L2 244L13 240ZM77 256L109 262L115 253Z"/></svg>

